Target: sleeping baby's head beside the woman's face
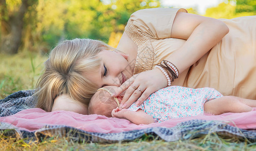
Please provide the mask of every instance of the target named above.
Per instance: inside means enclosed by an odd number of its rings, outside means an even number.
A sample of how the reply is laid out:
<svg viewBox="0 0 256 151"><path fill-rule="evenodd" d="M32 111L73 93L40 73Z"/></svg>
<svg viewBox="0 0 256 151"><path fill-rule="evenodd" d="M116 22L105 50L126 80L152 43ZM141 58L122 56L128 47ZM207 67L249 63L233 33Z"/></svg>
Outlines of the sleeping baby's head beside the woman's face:
<svg viewBox="0 0 256 151"><path fill-rule="evenodd" d="M100 88L91 98L88 111L89 114L105 115L107 117L112 117L111 112L116 107L119 107L119 103L122 97L111 97L113 94L113 88L116 86L106 86Z"/></svg>

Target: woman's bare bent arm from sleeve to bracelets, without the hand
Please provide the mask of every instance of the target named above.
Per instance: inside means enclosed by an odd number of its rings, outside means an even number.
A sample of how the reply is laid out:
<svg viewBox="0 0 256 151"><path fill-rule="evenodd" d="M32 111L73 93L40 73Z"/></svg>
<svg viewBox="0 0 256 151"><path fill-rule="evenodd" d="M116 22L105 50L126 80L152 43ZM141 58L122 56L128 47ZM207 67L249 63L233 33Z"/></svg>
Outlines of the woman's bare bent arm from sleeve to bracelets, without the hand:
<svg viewBox="0 0 256 151"><path fill-rule="evenodd" d="M171 37L187 40L166 60L174 63L180 72L194 64L229 32L220 20L178 12Z"/></svg>

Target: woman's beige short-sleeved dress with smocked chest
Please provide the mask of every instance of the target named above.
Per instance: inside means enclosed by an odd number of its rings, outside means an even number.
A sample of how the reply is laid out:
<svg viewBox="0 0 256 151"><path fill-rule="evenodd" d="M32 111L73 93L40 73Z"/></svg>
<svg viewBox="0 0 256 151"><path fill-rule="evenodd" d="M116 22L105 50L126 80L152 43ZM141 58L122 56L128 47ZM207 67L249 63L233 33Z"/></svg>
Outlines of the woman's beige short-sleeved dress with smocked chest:
<svg viewBox="0 0 256 151"><path fill-rule="evenodd" d="M152 69L183 45L185 40L170 38L178 11L187 12L157 8L131 15L125 32L138 46L134 74ZM172 85L210 87L225 96L256 99L256 16L220 20L229 33Z"/></svg>

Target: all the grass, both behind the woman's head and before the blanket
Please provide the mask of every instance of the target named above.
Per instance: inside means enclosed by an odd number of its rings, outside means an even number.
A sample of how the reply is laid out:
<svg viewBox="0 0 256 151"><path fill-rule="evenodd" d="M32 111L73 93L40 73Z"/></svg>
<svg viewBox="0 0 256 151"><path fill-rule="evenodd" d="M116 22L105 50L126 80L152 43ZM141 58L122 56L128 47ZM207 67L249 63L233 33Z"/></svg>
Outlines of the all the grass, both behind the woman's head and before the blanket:
<svg viewBox="0 0 256 151"><path fill-rule="evenodd" d="M0 54L0 99L20 90L31 90L44 67L46 56L29 52ZM193 135L193 134L192 134ZM41 142L6 137L0 133L0 150L256 150L256 143L208 134L198 138L166 142L148 135L118 143L74 142L49 138Z"/></svg>

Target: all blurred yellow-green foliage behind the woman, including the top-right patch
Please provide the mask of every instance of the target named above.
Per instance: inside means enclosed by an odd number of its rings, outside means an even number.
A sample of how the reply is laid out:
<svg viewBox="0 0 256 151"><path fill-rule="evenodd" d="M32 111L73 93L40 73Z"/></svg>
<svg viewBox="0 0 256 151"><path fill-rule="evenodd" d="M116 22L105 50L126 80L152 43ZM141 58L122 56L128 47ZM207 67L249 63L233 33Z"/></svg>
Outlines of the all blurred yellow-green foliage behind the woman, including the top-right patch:
<svg viewBox="0 0 256 151"><path fill-rule="evenodd" d="M24 16L19 51L44 53L58 42L73 38L98 39L116 47L133 12L165 7L159 0L28 1L31 6ZM15 13L22 3L22 0L6 0L8 13ZM197 14L194 8L186 9ZM227 0L218 7L208 8L204 16L230 19L248 15L256 15L255 0Z"/></svg>

